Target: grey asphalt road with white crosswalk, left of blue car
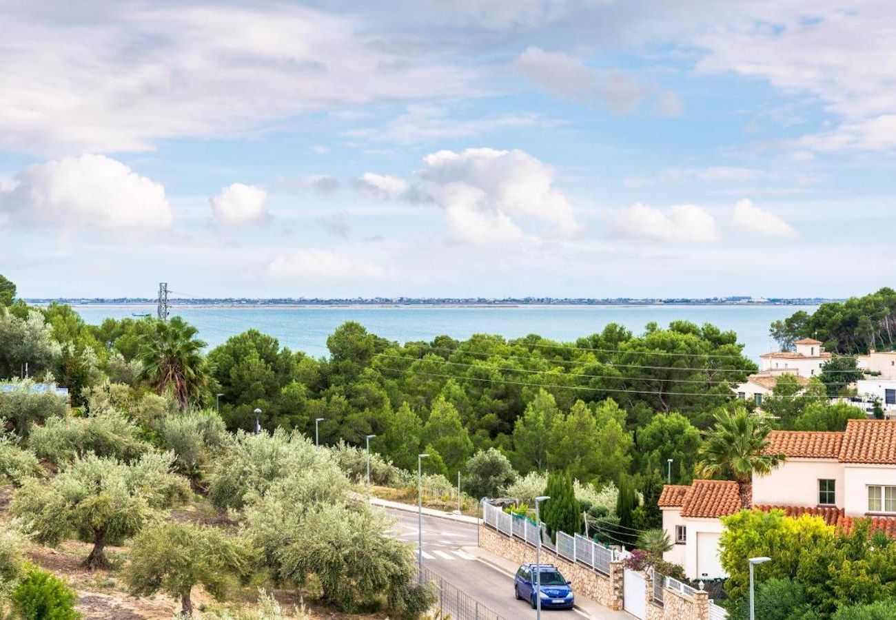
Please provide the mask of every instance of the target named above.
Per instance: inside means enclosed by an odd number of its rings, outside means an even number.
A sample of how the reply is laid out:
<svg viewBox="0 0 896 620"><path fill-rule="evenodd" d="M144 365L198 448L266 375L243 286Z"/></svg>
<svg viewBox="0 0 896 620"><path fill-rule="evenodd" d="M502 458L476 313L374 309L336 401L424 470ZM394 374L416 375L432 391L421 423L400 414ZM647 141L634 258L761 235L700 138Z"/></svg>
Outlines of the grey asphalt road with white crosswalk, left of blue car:
<svg viewBox="0 0 896 620"><path fill-rule="evenodd" d="M398 519L396 537L417 548L417 515L387 511ZM507 620L535 618L535 610L526 601L513 597L513 575L478 560L460 547L477 547L476 526L437 517L423 516L423 564L442 575L445 581L477 599ZM547 618L580 618L575 610L542 610Z"/></svg>

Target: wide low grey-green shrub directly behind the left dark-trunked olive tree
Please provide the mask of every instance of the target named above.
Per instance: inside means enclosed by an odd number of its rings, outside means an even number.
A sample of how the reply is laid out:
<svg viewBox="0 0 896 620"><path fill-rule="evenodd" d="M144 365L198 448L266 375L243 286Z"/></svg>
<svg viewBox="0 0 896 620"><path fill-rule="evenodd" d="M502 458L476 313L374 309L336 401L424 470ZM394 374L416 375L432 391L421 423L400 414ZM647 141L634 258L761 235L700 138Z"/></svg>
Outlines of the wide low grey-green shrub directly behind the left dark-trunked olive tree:
<svg viewBox="0 0 896 620"><path fill-rule="evenodd" d="M41 459L56 465L96 454L130 462L150 450L138 439L140 429L116 411L102 411L90 418L49 418L31 429L28 445Z"/></svg>

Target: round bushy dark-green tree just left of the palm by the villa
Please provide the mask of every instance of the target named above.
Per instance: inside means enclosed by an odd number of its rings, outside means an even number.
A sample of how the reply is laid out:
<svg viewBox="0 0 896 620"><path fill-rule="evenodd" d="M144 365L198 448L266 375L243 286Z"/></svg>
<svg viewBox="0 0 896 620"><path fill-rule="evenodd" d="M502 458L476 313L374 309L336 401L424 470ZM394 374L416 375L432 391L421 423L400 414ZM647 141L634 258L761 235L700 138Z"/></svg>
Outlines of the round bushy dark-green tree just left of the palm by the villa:
<svg viewBox="0 0 896 620"><path fill-rule="evenodd" d="M658 413L650 419L650 424L642 426L635 435L635 453L642 467L652 463L653 467L665 468L667 460L673 460L673 479L676 484L690 484L694 463L702 441L700 431L680 413ZM676 476L677 472L685 478Z"/></svg>

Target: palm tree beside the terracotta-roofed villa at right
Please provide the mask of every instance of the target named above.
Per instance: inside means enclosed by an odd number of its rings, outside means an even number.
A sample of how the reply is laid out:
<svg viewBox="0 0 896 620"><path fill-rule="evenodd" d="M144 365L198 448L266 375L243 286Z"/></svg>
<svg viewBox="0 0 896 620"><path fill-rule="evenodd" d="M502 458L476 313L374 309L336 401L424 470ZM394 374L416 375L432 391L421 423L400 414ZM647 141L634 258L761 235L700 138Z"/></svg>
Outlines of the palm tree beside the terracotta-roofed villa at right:
<svg viewBox="0 0 896 620"><path fill-rule="evenodd" d="M746 409L734 413L721 410L716 425L706 434L700 449L697 473L705 478L724 477L737 482L744 508L752 503L753 474L765 475L784 460L783 454L769 454L771 427L765 418Z"/></svg>

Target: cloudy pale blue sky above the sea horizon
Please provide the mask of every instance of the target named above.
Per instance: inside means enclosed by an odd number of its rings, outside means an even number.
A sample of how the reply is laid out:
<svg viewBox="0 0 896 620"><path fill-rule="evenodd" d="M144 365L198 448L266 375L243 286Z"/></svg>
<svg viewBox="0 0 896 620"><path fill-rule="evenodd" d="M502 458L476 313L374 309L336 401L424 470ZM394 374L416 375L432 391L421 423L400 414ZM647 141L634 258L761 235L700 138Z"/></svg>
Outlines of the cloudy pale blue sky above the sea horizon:
<svg viewBox="0 0 896 620"><path fill-rule="evenodd" d="M845 297L887 0L0 0L22 297Z"/></svg>

